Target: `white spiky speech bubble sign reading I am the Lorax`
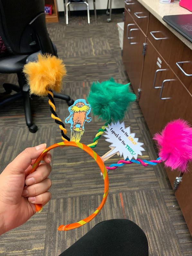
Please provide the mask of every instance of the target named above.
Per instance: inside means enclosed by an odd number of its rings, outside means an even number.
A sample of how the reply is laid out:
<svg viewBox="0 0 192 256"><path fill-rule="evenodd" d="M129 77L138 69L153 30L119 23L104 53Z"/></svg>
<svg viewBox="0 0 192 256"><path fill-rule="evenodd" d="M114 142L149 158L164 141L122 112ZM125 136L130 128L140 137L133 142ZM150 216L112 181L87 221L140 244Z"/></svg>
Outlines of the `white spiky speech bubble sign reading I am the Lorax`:
<svg viewBox="0 0 192 256"><path fill-rule="evenodd" d="M135 133L131 133L130 126L125 128L124 122L108 124L105 133L106 141L111 143L110 147L114 148L106 157L119 152L120 156L123 155L124 160L127 158L131 160L133 157L137 159L138 155L142 156L141 151L145 151L142 148L143 143L138 142L139 139L135 138Z"/></svg>

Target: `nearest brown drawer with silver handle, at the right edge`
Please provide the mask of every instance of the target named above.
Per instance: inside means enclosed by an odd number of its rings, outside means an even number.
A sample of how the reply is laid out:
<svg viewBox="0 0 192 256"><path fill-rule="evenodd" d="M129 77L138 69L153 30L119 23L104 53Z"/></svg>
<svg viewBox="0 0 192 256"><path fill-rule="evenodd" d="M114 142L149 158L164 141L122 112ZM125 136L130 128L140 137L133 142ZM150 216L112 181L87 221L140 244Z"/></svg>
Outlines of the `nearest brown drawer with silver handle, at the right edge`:
<svg viewBox="0 0 192 256"><path fill-rule="evenodd" d="M192 50L175 35L173 37L174 44L171 47L169 66L192 94Z"/></svg>

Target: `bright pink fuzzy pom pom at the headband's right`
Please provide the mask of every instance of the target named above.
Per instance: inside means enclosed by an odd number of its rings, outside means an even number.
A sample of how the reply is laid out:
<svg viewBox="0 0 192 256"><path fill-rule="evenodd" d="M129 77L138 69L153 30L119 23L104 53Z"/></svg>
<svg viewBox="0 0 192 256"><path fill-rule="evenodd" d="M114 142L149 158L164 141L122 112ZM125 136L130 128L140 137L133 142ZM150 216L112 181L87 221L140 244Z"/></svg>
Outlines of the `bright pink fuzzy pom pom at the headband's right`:
<svg viewBox="0 0 192 256"><path fill-rule="evenodd" d="M169 122L153 139L158 142L159 156L166 167L187 171L187 164L192 161L192 127L187 121L177 119Z"/></svg>

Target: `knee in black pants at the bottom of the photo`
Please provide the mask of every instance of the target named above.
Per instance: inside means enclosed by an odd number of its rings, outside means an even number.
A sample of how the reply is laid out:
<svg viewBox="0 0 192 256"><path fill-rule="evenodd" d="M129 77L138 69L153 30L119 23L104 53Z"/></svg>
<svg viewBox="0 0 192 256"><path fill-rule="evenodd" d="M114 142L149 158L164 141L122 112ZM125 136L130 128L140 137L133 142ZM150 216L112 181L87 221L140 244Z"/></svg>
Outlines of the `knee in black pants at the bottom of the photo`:
<svg viewBox="0 0 192 256"><path fill-rule="evenodd" d="M70 231L69 231L70 232ZM148 256L145 233L126 219L98 223L59 256Z"/></svg>

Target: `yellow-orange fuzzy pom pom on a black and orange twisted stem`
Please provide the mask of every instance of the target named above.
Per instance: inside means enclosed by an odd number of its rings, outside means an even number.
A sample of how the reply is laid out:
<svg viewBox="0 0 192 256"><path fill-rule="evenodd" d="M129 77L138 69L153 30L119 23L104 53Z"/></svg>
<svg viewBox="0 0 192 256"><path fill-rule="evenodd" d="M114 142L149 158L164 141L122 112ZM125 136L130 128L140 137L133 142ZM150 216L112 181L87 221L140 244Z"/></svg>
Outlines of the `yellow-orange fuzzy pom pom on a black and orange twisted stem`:
<svg viewBox="0 0 192 256"><path fill-rule="evenodd" d="M25 64L23 72L30 86L30 93L38 96L46 96L47 90L60 92L62 78L67 73L63 61L49 54L38 54L38 60Z"/></svg>

